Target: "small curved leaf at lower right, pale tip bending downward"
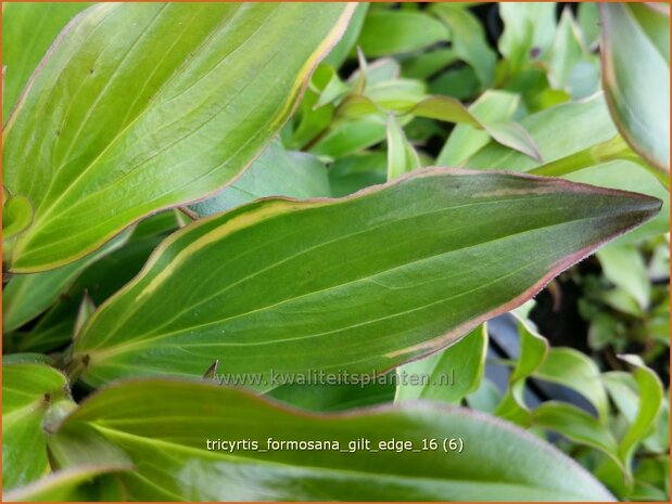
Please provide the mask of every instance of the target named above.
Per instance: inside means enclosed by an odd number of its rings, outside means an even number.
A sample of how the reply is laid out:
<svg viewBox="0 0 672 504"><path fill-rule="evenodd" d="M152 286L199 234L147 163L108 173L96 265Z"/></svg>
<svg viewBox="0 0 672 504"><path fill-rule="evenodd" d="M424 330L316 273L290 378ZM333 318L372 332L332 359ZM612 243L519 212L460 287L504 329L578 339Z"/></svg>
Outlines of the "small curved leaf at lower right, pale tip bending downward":
<svg viewBox="0 0 672 504"><path fill-rule="evenodd" d="M607 392L597 364L572 348L551 348L544 363L534 372L535 378L571 388L585 397L606 422L609 413Z"/></svg>

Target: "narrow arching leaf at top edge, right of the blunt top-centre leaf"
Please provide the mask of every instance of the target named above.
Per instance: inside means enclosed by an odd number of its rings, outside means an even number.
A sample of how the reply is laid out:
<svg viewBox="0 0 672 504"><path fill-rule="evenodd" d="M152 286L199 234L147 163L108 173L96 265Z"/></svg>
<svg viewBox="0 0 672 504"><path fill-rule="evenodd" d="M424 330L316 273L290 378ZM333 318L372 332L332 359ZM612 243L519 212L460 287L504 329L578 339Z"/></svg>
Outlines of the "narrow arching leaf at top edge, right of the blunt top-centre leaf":
<svg viewBox="0 0 672 504"><path fill-rule="evenodd" d="M490 87L495 77L497 55L487 44L479 20L460 5L434 3L430 9L448 26L455 54L471 65L484 88Z"/></svg>

